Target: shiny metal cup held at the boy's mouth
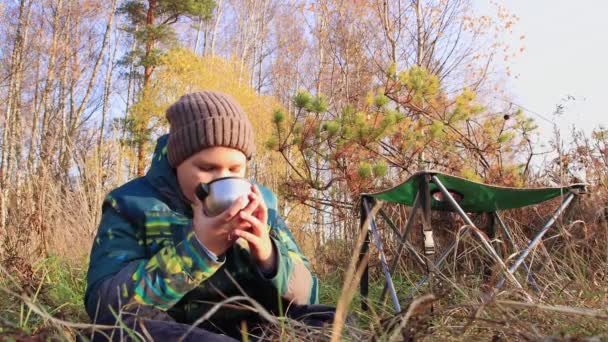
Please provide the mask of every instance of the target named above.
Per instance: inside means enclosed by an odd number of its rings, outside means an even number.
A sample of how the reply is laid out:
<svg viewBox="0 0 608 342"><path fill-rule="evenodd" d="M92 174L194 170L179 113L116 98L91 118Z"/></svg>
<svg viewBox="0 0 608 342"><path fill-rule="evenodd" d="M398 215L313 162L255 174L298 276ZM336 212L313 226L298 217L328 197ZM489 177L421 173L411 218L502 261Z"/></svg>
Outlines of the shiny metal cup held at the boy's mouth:
<svg viewBox="0 0 608 342"><path fill-rule="evenodd" d="M195 190L196 196L203 202L207 216L217 216L228 209L237 198L251 192L251 183L240 177L224 177L209 183L200 183ZM245 206L249 204L249 198Z"/></svg>

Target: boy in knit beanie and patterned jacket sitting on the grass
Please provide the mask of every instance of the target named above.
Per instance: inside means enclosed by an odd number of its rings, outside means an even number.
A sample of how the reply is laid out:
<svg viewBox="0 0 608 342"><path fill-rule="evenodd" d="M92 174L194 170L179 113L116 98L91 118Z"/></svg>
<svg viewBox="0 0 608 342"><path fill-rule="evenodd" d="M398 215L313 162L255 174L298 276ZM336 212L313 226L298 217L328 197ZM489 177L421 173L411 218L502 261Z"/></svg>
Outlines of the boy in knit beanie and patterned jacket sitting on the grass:
<svg viewBox="0 0 608 342"><path fill-rule="evenodd" d="M169 107L167 119L169 134L158 140L147 174L103 203L85 293L91 319L114 324L120 314L130 328L171 340L233 296L248 296L275 315L319 311L309 305L318 302L317 278L270 190L252 185L248 198L214 217L195 195L201 182L245 176L254 134L238 103L217 92L187 94ZM248 329L263 323L235 304L222 306L187 338L240 338L243 321ZM331 320L333 309L323 310L307 323Z"/></svg>

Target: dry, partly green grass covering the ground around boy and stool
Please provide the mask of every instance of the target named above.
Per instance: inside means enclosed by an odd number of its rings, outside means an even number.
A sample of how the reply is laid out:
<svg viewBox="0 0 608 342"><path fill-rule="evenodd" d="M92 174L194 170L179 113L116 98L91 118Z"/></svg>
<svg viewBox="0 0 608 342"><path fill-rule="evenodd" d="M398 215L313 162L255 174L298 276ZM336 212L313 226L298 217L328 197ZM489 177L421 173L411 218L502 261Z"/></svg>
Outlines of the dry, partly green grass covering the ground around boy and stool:
<svg viewBox="0 0 608 342"><path fill-rule="evenodd" d="M507 286L492 292L497 268L493 277L484 279L479 267L482 259L489 259L476 239L464 238L457 259L450 256L442 268L444 273L435 276L432 289L422 287L411 301L405 297L420 274L408 264L399 266L393 282L403 310L396 315L390 300L377 301L384 276L372 250L369 310L361 310L356 270L352 264L344 265L344 269L320 274L321 303L342 306L347 313L341 332L310 331L297 322L279 319L274 336L282 340L329 340L333 334L334 338L352 341L608 341L608 228L596 216L585 211L582 215L590 217L587 221L591 223L552 229L528 260L541 288L538 293L526 286L523 272L516 274L523 289ZM523 229L510 223L525 242ZM342 253L347 255L348 249ZM31 262L5 258L0 272L3 338L73 340L78 329L87 327L82 303L86 276L83 259L34 257ZM347 291L343 288L345 278L352 279L346 282L351 284Z"/></svg>

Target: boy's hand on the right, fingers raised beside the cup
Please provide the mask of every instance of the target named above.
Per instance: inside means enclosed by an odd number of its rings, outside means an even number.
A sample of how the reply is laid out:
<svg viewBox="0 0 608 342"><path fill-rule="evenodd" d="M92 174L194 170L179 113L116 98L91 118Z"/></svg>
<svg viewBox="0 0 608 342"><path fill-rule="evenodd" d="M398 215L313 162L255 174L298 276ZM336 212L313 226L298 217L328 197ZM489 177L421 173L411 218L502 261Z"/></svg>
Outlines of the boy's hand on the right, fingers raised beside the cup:
<svg viewBox="0 0 608 342"><path fill-rule="evenodd" d="M243 210L237 215L244 222L247 222L251 228L239 228L234 230L232 234L237 238L245 239L249 243L251 254L262 270L270 272L275 267L276 255L266 223L268 221L268 210L259 189L253 185L251 190L252 193L249 194L250 203L245 209L253 208L253 211Z"/></svg>

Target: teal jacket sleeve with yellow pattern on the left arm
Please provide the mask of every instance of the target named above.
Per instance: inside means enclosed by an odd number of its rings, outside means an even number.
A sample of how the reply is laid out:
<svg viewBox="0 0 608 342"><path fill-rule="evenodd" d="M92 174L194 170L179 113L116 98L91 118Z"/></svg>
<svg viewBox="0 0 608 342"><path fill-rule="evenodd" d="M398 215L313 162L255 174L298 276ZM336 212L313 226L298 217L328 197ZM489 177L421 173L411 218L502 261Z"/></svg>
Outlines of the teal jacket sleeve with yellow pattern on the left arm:
<svg viewBox="0 0 608 342"><path fill-rule="evenodd" d="M165 311L222 266L224 260L208 255L192 230L179 243L146 257L143 229L122 217L112 203L104 202L91 250L85 293L91 319L107 319L112 317L110 308L117 313L128 306Z"/></svg>

